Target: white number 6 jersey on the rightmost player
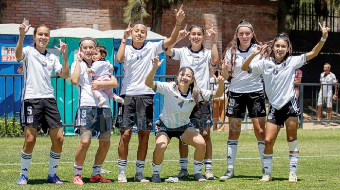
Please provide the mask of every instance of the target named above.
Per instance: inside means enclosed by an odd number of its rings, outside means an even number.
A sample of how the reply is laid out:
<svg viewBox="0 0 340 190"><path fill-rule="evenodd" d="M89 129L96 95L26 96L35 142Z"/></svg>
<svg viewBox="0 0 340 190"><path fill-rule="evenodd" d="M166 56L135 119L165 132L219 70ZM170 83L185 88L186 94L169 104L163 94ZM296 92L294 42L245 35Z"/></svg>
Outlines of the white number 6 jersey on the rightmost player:
<svg viewBox="0 0 340 190"><path fill-rule="evenodd" d="M285 62L276 63L272 57L251 63L249 73L262 74L269 103L281 109L295 98L295 69L306 64L306 54L289 56Z"/></svg>

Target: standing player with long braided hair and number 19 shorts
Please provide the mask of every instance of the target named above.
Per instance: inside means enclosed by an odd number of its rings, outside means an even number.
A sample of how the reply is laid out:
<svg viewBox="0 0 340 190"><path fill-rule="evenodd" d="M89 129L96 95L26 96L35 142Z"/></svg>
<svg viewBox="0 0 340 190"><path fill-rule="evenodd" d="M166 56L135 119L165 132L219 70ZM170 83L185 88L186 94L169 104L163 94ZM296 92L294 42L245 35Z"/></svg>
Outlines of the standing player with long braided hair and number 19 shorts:
<svg viewBox="0 0 340 190"><path fill-rule="evenodd" d="M254 29L247 20L241 20L236 28L233 40L225 50L225 59L229 64L232 80L229 86L226 116L229 119L229 136L227 142L228 170L220 179L234 176L234 165L238 138L241 134L241 123L248 108L249 117L253 123L257 147L260 153L262 172L263 149L265 148L266 98L262 80L259 74L248 74L241 70L246 57L259 45ZM259 56L258 56L259 57Z"/></svg>

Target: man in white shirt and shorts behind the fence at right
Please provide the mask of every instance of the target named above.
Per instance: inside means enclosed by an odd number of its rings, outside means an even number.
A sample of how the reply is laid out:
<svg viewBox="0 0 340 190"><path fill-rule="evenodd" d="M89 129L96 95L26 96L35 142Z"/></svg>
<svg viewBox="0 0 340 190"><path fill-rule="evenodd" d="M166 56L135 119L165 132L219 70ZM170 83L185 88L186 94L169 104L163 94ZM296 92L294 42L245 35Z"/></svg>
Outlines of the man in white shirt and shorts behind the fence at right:
<svg viewBox="0 0 340 190"><path fill-rule="evenodd" d="M327 104L328 109L328 120L332 120L332 98L333 100L337 100L338 98L338 86L335 86L335 92L332 97L332 87L329 84L337 84L337 78L335 77L335 74L333 74L331 71L331 65L328 63L325 63L323 65L323 71L320 75L320 83L322 84L319 92L319 98L318 98L318 121L321 120L321 107L322 103ZM329 126L329 122L326 123L325 126Z"/></svg>

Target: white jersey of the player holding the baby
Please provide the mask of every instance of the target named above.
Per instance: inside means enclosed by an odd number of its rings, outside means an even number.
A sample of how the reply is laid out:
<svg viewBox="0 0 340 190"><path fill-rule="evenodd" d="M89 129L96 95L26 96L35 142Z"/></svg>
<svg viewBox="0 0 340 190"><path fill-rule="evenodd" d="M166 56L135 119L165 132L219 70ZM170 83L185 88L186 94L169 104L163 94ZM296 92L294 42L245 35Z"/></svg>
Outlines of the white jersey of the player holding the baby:
<svg viewBox="0 0 340 190"><path fill-rule="evenodd" d="M75 64L76 61L72 63L71 66L71 74L73 74L74 69L75 69ZM98 106L99 100L92 95L91 92L91 83L92 83L92 77L91 74L88 74L86 72L86 69L88 68L88 65L86 62L81 61L80 62L80 80L77 85L77 90L78 90L78 107L79 106ZM104 98L108 100L107 94L102 93ZM110 107L109 101L107 101L103 107Z"/></svg>

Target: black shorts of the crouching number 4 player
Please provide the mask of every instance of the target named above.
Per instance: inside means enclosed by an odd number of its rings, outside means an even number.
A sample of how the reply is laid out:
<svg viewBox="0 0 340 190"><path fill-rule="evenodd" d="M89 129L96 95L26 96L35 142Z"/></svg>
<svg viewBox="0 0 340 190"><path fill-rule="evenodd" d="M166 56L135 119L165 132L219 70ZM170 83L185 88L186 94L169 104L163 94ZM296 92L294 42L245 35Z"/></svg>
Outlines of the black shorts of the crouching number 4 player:
<svg viewBox="0 0 340 190"><path fill-rule="evenodd" d="M171 128L167 128L162 121L158 120L155 123L155 136L157 136L157 134L160 132L164 132L170 138L170 140L171 138L176 137L180 141L182 141L182 135L184 131L187 130L189 127L193 127L193 124L188 123L187 125L183 125L178 128L171 129ZM183 141L182 143L186 145Z"/></svg>

